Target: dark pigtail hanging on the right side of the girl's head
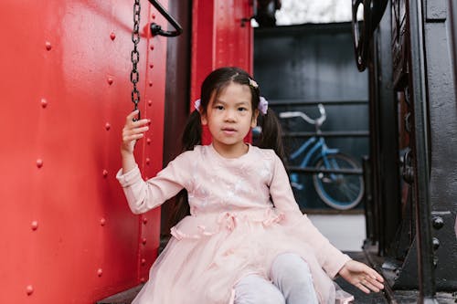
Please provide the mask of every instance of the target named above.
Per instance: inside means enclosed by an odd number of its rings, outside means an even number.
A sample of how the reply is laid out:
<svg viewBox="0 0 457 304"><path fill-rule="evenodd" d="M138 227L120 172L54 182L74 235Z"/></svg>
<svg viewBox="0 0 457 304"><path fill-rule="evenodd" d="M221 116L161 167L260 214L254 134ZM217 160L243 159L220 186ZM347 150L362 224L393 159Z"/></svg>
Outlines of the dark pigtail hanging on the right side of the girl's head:
<svg viewBox="0 0 457 304"><path fill-rule="evenodd" d="M256 145L259 148L274 150L285 165L286 157L282 144L282 127L273 110L268 109L266 114L259 115L259 125L261 132Z"/></svg>

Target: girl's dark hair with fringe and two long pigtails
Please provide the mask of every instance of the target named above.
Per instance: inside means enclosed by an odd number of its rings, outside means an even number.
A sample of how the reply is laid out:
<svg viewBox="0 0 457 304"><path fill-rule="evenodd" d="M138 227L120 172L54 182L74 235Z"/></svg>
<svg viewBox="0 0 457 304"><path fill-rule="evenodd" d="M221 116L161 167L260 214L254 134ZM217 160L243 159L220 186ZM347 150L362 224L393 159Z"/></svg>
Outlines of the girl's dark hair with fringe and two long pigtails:
<svg viewBox="0 0 457 304"><path fill-rule="evenodd" d="M217 99L219 94L226 89L230 83L238 83L250 87L252 96L252 115L254 115L254 110L258 109L260 103L260 90L257 83L250 77L250 74L243 69L236 67L215 69L202 83L199 110L194 110L186 122L182 137L183 152L194 150L195 146L201 144L203 128L201 125L200 113L206 114L207 106L213 95L214 98ZM281 124L274 112L271 109L268 109L265 115L260 113L258 122L261 133L259 139L255 142L255 145L260 148L274 150L282 162L285 162ZM176 195L175 211L171 217L171 224L175 225L175 223L189 214L190 209L187 200L187 191L186 189L183 189Z"/></svg>

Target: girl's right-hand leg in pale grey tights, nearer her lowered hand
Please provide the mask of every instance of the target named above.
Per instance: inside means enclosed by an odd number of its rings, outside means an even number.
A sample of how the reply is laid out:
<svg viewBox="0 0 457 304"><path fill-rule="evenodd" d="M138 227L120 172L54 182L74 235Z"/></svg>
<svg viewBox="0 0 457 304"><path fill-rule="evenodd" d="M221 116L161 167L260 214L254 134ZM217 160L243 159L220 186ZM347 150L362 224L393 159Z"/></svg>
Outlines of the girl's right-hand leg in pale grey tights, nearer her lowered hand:
<svg viewBox="0 0 457 304"><path fill-rule="evenodd" d="M317 304L313 278L302 257L286 253L279 255L271 266L271 279L287 304Z"/></svg>

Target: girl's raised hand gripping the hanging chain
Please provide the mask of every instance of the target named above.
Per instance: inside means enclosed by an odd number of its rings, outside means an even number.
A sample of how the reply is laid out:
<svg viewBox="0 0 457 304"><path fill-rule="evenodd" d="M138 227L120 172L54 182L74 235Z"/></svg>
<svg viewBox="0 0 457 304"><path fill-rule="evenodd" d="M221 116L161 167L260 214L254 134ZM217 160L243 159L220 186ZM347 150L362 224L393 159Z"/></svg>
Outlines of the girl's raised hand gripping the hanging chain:
<svg viewBox="0 0 457 304"><path fill-rule="evenodd" d="M144 136L144 132L149 130L147 124L148 119L140 121L133 121L133 118L138 115L138 110L133 110L132 113L127 115L125 125L122 129L122 146L121 152L133 154L135 142Z"/></svg>

